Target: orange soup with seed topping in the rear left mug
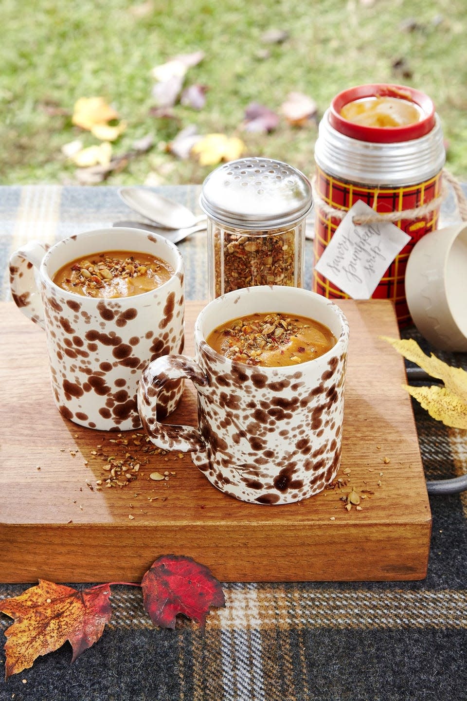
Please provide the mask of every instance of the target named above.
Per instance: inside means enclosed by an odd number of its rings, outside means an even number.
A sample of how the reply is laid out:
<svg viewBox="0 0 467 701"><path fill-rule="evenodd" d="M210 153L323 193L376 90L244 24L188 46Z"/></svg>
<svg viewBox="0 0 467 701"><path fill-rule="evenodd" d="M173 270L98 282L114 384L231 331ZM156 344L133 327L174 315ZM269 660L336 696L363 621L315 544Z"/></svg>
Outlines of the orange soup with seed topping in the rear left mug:
<svg viewBox="0 0 467 701"><path fill-rule="evenodd" d="M55 273L53 282L83 297L114 299L155 290L172 275L172 267L151 254L102 251L67 263Z"/></svg>

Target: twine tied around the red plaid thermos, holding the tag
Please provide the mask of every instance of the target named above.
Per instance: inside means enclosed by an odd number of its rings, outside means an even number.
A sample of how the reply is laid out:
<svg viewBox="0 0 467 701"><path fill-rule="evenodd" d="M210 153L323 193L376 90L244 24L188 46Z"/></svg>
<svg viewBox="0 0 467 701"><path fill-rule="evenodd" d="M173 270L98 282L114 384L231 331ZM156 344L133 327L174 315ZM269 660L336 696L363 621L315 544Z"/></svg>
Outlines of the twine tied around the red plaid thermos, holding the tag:
<svg viewBox="0 0 467 701"><path fill-rule="evenodd" d="M452 186L461 221L467 222L467 198L463 193L459 180L457 180L448 170L445 170L445 168L442 170L442 177L444 182L448 182ZM312 189L314 204L315 206L317 205L319 207L326 219L332 217L333 219L340 219L340 221L342 221L342 219L344 219L344 217L347 215L347 210L337 210L335 207L330 207L328 203L321 199L321 196L316 190L316 177L312 181ZM419 207L414 207L410 210L402 210L401 212L375 212L375 214L360 215L358 217L353 217L352 222L354 224L376 224L377 222L382 221L398 222L400 219L421 219L431 215L431 212L438 209L446 197L447 187L443 186L442 192L440 195L438 195L438 197L435 197L433 200L430 200L426 204L420 205ZM376 202L377 195L375 195L373 207L376 206Z"/></svg>

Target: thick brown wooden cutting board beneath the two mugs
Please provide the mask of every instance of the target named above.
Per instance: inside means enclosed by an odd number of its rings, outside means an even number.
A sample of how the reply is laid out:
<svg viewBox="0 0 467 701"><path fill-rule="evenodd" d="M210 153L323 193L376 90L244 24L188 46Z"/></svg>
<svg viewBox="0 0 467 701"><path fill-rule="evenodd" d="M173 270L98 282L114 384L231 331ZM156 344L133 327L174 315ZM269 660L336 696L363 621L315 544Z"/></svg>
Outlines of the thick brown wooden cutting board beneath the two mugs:
<svg viewBox="0 0 467 701"><path fill-rule="evenodd" d="M170 553L221 581L424 578L431 513L404 364L378 338L398 336L393 306L339 304L351 329L340 482L267 506L225 496L189 455L159 454L141 431L104 433L62 418L43 331L1 303L0 581L139 581ZM186 306L188 354L202 306ZM195 423L195 414L188 383L171 422ZM139 462L136 479L106 487L108 458ZM153 481L153 472L167 479ZM351 488L365 496L361 510L345 508Z"/></svg>

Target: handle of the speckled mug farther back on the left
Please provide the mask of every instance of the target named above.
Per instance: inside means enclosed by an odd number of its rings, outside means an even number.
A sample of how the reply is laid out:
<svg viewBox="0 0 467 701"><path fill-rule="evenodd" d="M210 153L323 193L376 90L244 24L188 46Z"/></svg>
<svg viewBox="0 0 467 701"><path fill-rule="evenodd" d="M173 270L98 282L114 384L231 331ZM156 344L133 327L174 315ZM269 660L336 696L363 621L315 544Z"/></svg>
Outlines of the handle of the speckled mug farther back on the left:
<svg viewBox="0 0 467 701"><path fill-rule="evenodd" d="M48 243L32 241L15 251L10 258L10 289L16 306L28 318L44 328L44 309L41 292L36 282Z"/></svg>

